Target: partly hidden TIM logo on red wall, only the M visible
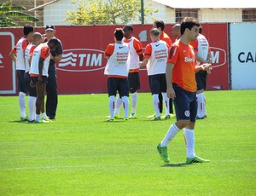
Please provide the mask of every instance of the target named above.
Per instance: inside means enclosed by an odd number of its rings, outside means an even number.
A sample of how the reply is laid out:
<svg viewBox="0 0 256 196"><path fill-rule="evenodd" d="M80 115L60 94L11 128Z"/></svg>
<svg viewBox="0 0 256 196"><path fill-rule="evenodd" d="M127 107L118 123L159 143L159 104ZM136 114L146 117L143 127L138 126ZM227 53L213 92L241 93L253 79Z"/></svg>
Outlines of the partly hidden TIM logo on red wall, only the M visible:
<svg viewBox="0 0 256 196"><path fill-rule="evenodd" d="M224 49L210 47L212 53L212 67L224 66L227 62L227 55Z"/></svg>

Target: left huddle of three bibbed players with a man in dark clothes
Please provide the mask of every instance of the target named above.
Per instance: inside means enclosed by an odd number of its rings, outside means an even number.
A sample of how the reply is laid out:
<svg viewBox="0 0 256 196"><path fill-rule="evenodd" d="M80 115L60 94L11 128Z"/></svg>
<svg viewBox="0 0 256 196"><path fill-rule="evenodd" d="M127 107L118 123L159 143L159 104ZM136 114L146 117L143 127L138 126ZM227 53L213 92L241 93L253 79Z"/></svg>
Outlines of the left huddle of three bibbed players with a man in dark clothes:
<svg viewBox="0 0 256 196"><path fill-rule="evenodd" d="M58 103L55 61L61 61L61 41L55 26L47 25L45 35L34 32L33 26L23 28L21 37L9 58L15 61L18 75L20 121L49 123L55 119ZM46 111L44 93L47 92ZM26 115L25 96L28 92L29 115ZM41 117L42 114L42 117Z"/></svg>

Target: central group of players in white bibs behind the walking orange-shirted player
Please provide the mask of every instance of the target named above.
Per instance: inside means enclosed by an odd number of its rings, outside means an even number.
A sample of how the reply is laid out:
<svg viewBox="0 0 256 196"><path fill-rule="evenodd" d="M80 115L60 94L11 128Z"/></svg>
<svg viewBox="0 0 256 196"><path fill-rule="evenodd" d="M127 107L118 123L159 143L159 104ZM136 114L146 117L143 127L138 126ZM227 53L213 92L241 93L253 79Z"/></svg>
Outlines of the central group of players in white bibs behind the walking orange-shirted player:
<svg viewBox="0 0 256 196"><path fill-rule="evenodd" d="M139 69L140 65L139 62L142 62L143 59L146 61L141 66L147 65L148 71L148 81L151 93L153 95L153 103L154 103L154 114L148 116L151 120L160 120L160 119L169 119L175 117L172 98L168 98L166 95L166 60L167 56L169 55L169 51L172 47L172 40L171 38L164 32L165 30L165 23L162 20L155 20L153 28L156 30L150 32L150 37L152 43L146 46L146 49L143 52L143 44L136 38L132 36L133 27L132 26L124 26L123 27L123 38L119 38L121 40L115 40L115 43L111 43L108 45L108 48L105 51L105 57L111 57L111 61L108 61L108 66L106 66L105 74L108 75L109 80L117 80L117 81L125 81L128 78L128 90L126 86L115 86L114 84L108 84L108 90L111 91L109 94L109 112L110 116L107 121L113 121L115 118L119 117L119 110L120 107L123 105L125 108L125 120L128 118L137 118L137 89L140 89L140 78L139 78ZM201 31L200 27L200 31ZM116 29L116 32L122 32L121 29ZM154 32L156 33L155 36L153 35ZM114 36L115 37L115 36ZM180 32L180 24L176 24L172 27L172 37L176 38L176 41L181 37ZM116 39L117 37L115 37ZM155 47L155 51L160 51L161 49L166 48L166 51L162 52L164 54L164 58L161 61L158 59L154 61L154 55L151 55L152 46L154 43L157 47ZM127 56L127 69L124 68L124 72L122 73L109 73L114 72L116 69L119 69L120 61L116 65L114 65L113 58L117 57L116 54L113 54L113 51L118 52L121 51L118 47L114 50L114 45L119 45L126 43L129 49L129 55ZM195 49L195 55L197 64L200 65L201 63L207 63L211 61L211 51L209 44L207 43L207 39L199 34L195 41L191 41L190 43L193 45ZM122 48L122 50L125 49ZM159 55L158 57L159 58ZM125 60L125 59L123 59ZM148 62L149 61L149 62ZM160 65L163 64L163 65ZM128 74L128 76L127 76ZM206 89L207 83L207 72L200 71L195 73L196 75L196 82L197 82L197 93L198 95L198 115L197 118L206 118L206 107L205 107L205 96L203 94L203 90ZM118 76L118 77L117 77ZM160 77L160 78L159 78ZM110 82L109 82L110 83ZM118 82L117 82L118 83ZM125 89L126 88L126 89ZM124 94L125 89L125 95ZM120 93L121 91L121 93ZM129 110L129 101L128 95L131 95L131 115L128 117L128 110ZM119 92L119 95L116 97L116 93ZM116 100L115 100L116 97ZM127 99L126 99L127 97ZM164 103L164 104L163 104ZM163 107L165 107L166 114L160 117L160 113L162 113Z"/></svg>

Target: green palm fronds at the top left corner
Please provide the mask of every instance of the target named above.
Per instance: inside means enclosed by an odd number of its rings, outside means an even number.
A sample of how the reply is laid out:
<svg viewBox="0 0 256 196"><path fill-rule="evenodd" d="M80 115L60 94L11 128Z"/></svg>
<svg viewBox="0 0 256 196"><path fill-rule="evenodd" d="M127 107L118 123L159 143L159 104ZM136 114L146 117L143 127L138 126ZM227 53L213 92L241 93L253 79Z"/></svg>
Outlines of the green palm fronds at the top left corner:
<svg viewBox="0 0 256 196"><path fill-rule="evenodd" d="M23 13L24 10L26 10L25 7L15 6L12 1L0 3L0 27L16 26L14 17L28 22L38 21L32 15Z"/></svg>

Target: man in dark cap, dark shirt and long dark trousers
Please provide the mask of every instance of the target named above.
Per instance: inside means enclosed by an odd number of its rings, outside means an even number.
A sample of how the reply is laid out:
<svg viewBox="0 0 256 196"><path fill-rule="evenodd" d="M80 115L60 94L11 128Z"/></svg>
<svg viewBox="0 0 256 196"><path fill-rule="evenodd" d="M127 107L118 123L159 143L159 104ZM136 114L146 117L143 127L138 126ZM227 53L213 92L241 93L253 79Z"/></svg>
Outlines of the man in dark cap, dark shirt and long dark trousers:
<svg viewBox="0 0 256 196"><path fill-rule="evenodd" d="M55 37L55 26L47 25L45 27L46 39L45 42L49 39ZM55 37L56 38L56 37ZM58 46L55 50L51 50L50 61L49 61L49 77L48 83L46 85L47 99L46 99L46 114L49 119L55 119L57 105L58 105L58 86L57 86L57 77L56 77L56 66L55 62L61 61L62 58L62 44L61 40L58 40Z"/></svg>

